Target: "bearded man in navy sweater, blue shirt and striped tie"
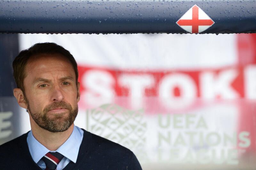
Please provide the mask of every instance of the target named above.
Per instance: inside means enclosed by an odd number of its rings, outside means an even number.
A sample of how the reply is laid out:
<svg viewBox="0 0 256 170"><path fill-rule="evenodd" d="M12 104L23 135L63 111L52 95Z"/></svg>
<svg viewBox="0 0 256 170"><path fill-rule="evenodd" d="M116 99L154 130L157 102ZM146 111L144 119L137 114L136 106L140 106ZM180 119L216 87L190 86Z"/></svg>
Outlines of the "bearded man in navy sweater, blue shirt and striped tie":
<svg viewBox="0 0 256 170"><path fill-rule="evenodd" d="M13 61L20 107L31 131L0 146L0 169L141 170L127 148L74 126L80 99L77 64L55 43L38 43Z"/></svg>

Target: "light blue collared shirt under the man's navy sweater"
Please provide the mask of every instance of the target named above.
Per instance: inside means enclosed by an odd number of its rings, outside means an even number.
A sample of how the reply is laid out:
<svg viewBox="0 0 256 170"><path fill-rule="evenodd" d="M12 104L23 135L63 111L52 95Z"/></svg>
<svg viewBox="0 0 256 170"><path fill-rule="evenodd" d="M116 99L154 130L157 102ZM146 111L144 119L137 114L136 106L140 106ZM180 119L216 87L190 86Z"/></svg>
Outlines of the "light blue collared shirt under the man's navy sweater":
<svg viewBox="0 0 256 170"><path fill-rule="evenodd" d="M45 169L45 163L41 159L48 152L59 152L64 156L61 159L60 163L57 166L57 170L62 170L65 166L68 165L70 161L76 163L76 159L78 156L79 147L82 143L84 136L84 131L77 126L74 126L73 132L70 137L64 144L62 144L56 151L50 151L44 145L36 140L33 136L32 131L28 133L27 143L28 149L32 156L32 159L36 162L38 166L42 169Z"/></svg>

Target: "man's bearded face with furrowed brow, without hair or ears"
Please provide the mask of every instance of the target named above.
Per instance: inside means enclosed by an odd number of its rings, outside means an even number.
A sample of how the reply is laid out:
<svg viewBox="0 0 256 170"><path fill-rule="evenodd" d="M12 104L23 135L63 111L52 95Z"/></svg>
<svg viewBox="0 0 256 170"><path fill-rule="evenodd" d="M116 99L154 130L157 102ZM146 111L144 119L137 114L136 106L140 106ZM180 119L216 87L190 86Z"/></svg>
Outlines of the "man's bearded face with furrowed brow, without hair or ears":
<svg viewBox="0 0 256 170"><path fill-rule="evenodd" d="M42 54L28 60L24 96L38 126L51 132L67 130L74 122L79 85L72 64L60 54Z"/></svg>

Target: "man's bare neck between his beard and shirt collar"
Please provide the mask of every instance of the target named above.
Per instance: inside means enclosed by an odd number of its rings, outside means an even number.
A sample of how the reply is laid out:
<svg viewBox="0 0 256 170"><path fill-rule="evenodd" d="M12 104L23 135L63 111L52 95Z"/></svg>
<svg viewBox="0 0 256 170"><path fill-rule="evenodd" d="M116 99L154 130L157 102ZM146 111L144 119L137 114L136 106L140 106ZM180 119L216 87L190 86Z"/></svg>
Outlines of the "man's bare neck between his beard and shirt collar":
<svg viewBox="0 0 256 170"><path fill-rule="evenodd" d="M30 121L30 124L33 136L50 151L56 151L64 144L74 129L74 123L64 132L50 132L39 127L34 121Z"/></svg>

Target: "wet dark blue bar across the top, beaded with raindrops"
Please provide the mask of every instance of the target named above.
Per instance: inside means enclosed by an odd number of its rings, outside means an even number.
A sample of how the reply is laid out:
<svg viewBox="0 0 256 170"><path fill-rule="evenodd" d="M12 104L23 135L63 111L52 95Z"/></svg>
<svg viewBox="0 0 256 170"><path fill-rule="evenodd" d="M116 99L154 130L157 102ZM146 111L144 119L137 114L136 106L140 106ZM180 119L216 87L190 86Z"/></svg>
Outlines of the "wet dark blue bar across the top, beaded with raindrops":
<svg viewBox="0 0 256 170"><path fill-rule="evenodd" d="M0 33L187 33L193 5L215 22L202 33L256 33L255 0L0 1Z"/></svg>

